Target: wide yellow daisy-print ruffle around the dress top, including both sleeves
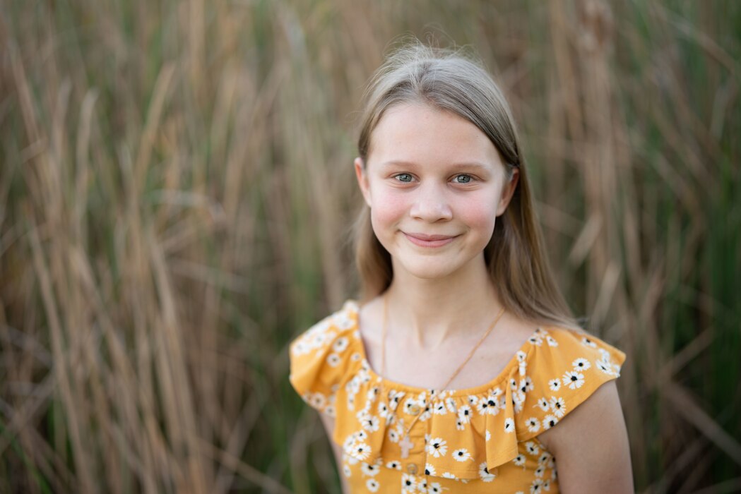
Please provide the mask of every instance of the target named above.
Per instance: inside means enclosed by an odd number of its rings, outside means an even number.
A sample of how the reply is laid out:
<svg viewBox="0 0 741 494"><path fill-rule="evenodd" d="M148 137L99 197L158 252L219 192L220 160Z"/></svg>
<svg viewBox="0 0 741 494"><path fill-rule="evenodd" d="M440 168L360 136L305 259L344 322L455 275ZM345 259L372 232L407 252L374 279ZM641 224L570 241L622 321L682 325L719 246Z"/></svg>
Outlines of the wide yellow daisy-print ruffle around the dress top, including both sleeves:
<svg viewBox="0 0 741 494"><path fill-rule="evenodd" d="M494 471L518 458L520 442L554 427L599 385L616 378L624 359L598 338L538 327L485 384L436 391L410 386L371 368L359 331L359 304L350 299L293 342L290 379L305 401L335 418L332 438L348 461L396 461L402 454L399 439L407 433L413 448L406 461L471 479L483 467ZM405 430L406 424L413 428ZM445 438L451 438L451 453L470 455L467 461L435 449L433 441L445 444Z"/></svg>

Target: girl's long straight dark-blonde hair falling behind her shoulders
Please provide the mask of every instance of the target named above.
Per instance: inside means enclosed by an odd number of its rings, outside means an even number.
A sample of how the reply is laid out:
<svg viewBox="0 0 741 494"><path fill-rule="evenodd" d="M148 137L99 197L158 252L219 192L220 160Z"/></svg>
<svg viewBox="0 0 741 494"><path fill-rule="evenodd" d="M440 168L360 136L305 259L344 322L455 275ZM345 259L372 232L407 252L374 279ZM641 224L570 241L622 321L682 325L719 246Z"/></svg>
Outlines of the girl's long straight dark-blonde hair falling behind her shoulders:
<svg viewBox="0 0 741 494"><path fill-rule="evenodd" d="M371 134L383 114L397 104L421 102L471 121L491 140L511 180L519 183L505 213L496 221L484 250L491 279L505 308L541 324L580 329L556 284L543 248L533 207L527 169L509 105L488 72L461 51L425 46L419 41L394 51L376 70L365 91L359 156L371 152ZM370 208L359 214L354 233L362 300L383 293L391 284L391 255L371 226Z"/></svg>

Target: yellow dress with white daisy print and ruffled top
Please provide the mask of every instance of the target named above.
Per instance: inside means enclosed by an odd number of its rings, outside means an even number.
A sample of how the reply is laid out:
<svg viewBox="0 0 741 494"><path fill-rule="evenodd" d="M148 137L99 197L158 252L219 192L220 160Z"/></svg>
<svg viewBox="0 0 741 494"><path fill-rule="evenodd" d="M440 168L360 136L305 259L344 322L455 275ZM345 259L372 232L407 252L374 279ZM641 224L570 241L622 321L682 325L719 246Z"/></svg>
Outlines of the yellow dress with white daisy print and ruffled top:
<svg viewBox="0 0 741 494"><path fill-rule="evenodd" d="M539 327L488 384L425 390L371 369L358 310L347 301L290 345L290 382L334 418L352 493L556 494L556 458L539 433L617 378L625 360L594 336ZM410 447L402 439L418 415Z"/></svg>

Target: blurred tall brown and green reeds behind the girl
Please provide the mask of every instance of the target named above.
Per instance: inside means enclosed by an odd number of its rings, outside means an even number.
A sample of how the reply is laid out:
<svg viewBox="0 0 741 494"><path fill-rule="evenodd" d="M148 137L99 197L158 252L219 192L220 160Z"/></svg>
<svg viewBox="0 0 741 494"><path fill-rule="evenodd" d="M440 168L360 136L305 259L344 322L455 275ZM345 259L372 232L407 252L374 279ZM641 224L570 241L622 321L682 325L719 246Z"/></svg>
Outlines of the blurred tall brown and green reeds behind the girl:
<svg viewBox="0 0 741 494"><path fill-rule="evenodd" d="M513 107L641 493L741 492L741 2L0 1L0 492L338 493L288 343L357 296L400 35Z"/></svg>

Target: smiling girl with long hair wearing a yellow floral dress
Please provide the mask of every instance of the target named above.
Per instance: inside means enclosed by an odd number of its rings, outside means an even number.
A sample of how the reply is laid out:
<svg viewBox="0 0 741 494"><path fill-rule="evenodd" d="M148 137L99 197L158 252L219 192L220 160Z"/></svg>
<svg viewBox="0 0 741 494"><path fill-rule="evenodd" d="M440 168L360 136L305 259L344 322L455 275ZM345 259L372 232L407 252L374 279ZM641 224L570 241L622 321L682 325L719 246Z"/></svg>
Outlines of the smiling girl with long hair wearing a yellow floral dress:
<svg viewBox="0 0 741 494"><path fill-rule="evenodd" d="M556 287L491 76L398 50L366 93L355 171L363 303L290 349L345 493L632 492L625 355Z"/></svg>

